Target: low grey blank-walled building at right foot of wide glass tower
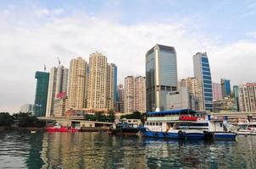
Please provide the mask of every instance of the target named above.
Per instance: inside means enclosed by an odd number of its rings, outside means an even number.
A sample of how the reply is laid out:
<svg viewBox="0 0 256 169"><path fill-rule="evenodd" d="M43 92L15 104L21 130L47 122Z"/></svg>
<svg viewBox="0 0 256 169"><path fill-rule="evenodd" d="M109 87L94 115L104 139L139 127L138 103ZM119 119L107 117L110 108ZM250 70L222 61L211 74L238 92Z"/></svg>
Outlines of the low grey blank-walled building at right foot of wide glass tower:
<svg viewBox="0 0 256 169"><path fill-rule="evenodd" d="M189 86L181 86L180 90L170 91L166 95L167 110L192 109L198 110L198 100L191 94Z"/></svg>

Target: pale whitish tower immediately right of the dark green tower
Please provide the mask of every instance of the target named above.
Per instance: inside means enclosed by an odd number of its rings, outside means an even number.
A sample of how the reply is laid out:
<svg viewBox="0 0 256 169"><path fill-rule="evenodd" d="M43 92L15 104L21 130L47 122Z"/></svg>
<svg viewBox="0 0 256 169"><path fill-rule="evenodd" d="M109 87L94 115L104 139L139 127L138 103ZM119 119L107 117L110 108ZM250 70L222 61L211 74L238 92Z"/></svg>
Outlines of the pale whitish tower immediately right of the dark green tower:
<svg viewBox="0 0 256 169"><path fill-rule="evenodd" d="M58 94L67 94L69 69L58 65L58 68L51 68L47 91L47 112L46 116L53 116L54 101Z"/></svg>

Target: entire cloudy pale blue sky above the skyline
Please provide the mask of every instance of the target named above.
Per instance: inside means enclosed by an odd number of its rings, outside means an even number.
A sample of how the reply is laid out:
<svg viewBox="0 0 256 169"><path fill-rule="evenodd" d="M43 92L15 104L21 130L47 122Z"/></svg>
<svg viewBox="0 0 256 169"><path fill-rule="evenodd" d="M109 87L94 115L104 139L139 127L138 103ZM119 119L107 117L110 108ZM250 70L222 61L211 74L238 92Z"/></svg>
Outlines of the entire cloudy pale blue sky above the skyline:
<svg viewBox="0 0 256 169"><path fill-rule="evenodd" d="M35 72L102 52L125 76L145 75L155 44L174 46L178 79L207 52L213 82L256 82L255 0L1 0L0 112L33 103Z"/></svg>

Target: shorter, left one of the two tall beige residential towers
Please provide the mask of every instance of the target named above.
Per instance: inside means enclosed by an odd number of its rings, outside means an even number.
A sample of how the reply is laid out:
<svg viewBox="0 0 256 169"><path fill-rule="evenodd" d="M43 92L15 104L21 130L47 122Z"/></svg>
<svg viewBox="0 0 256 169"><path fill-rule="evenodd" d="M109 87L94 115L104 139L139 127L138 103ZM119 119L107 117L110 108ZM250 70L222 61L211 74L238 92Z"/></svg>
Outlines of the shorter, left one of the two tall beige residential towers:
<svg viewBox="0 0 256 169"><path fill-rule="evenodd" d="M80 110L86 107L86 67L82 57L70 61L67 108Z"/></svg>

